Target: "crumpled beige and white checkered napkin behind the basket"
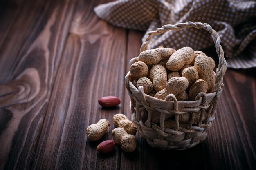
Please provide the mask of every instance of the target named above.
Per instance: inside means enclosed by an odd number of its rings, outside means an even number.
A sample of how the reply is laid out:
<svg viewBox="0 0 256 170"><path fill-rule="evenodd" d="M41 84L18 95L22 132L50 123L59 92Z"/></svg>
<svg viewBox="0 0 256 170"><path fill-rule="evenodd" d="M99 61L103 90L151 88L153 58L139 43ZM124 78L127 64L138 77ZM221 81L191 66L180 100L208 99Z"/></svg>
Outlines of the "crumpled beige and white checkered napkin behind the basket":
<svg viewBox="0 0 256 170"><path fill-rule="evenodd" d="M94 8L96 15L124 28L149 31L181 22L209 23L218 31L229 68L256 67L256 1L249 0L117 0ZM155 36L148 48L163 45L200 50L213 45L209 33L189 28Z"/></svg>

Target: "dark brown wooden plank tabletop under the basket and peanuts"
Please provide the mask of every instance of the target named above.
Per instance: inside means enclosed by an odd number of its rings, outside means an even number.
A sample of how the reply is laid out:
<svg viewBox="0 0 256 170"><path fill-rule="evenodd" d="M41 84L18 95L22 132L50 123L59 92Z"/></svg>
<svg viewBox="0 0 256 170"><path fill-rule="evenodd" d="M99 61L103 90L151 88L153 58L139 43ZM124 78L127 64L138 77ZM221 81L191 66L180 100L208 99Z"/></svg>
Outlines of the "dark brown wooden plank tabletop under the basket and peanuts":
<svg viewBox="0 0 256 170"><path fill-rule="evenodd" d="M0 2L0 170L255 170L255 68L227 70L216 120L198 146L159 150L137 134L133 153L97 152L112 139L112 116L130 118L124 76L144 34L99 20L93 8L109 1ZM106 95L119 107L101 108ZM87 126L101 118L108 132L88 141Z"/></svg>

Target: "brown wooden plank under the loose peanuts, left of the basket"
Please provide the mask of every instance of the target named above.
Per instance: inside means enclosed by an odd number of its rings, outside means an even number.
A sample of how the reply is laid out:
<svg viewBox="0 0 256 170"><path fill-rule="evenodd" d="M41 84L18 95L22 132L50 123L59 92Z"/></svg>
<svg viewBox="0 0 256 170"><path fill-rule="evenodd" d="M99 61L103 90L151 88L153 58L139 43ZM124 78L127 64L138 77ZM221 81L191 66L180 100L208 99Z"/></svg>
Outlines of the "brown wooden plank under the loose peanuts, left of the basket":
<svg viewBox="0 0 256 170"><path fill-rule="evenodd" d="M96 147L112 139L112 116L121 111L102 109L98 99L123 96L126 29L113 27L94 15L103 1L81 0L58 69L33 169L119 169L121 151L100 155ZM86 139L86 128L101 118L110 121L97 142Z"/></svg>

